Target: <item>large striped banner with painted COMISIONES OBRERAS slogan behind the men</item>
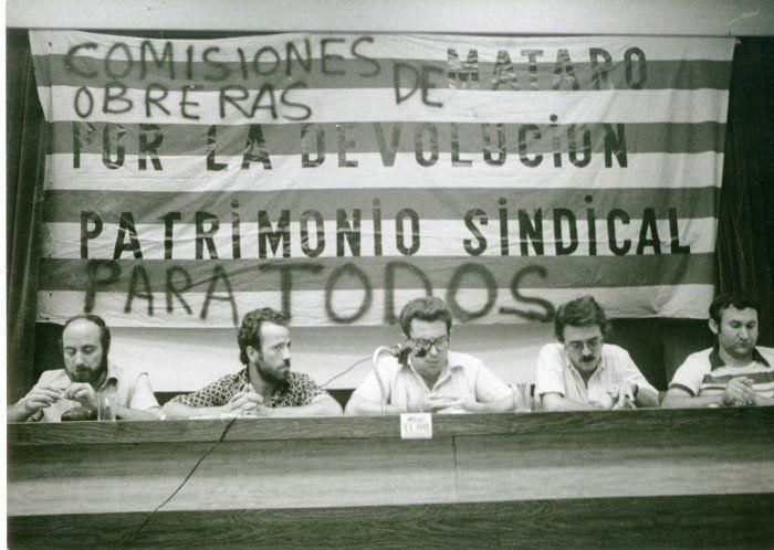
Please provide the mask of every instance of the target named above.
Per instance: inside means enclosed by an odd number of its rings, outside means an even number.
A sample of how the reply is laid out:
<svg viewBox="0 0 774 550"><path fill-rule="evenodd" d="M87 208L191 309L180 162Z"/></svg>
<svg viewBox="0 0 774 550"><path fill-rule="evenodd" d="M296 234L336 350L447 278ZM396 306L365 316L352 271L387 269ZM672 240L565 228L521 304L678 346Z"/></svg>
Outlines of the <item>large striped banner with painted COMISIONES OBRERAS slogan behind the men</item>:
<svg viewBox="0 0 774 550"><path fill-rule="evenodd" d="M30 36L40 320L707 315L733 39Z"/></svg>

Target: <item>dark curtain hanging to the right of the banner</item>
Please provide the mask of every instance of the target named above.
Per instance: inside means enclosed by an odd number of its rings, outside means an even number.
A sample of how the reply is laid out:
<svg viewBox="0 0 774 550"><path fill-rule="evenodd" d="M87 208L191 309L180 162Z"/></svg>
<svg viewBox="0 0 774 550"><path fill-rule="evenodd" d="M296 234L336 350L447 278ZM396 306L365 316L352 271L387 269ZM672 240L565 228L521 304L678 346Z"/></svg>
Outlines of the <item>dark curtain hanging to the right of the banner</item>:
<svg viewBox="0 0 774 550"><path fill-rule="evenodd" d="M718 223L718 290L760 304L762 345L774 345L774 39L742 39L729 93Z"/></svg>

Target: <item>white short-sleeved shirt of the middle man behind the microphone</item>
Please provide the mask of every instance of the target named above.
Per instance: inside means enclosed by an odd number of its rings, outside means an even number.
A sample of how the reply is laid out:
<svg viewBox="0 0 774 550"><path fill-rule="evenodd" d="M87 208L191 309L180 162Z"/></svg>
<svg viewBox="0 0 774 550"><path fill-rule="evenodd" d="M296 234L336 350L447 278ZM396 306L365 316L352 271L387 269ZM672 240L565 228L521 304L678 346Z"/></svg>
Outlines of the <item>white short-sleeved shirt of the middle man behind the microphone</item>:
<svg viewBox="0 0 774 550"><path fill-rule="evenodd" d="M386 402L404 411L408 409L409 388L416 387L420 388L425 394L432 392L433 395L451 399L472 396L480 403L489 403L511 394L508 385L479 359L468 353L449 351L447 364L432 388L427 387L425 379L410 364L400 364L395 357L383 356L377 363L377 369L385 387ZM381 402L380 394L379 381L374 371L368 373L353 393L376 403Z"/></svg>

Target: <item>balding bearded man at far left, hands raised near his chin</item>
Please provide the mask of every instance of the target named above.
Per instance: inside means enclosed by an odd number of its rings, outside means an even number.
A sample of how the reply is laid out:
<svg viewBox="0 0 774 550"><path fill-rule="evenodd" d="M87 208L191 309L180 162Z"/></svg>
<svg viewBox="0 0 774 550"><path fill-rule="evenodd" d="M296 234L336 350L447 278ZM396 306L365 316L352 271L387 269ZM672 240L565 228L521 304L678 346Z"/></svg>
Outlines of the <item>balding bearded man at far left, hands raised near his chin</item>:
<svg viewBox="0 0 774 550"><path fill-rule="evenodd" d="M72 317L61 343L64 369L43 372L30 393L9 408L9 422L96 420L98 411L112 420L111 408L124 420L163 417L148 374L108 361L111 331L101 317Z"/></svg>

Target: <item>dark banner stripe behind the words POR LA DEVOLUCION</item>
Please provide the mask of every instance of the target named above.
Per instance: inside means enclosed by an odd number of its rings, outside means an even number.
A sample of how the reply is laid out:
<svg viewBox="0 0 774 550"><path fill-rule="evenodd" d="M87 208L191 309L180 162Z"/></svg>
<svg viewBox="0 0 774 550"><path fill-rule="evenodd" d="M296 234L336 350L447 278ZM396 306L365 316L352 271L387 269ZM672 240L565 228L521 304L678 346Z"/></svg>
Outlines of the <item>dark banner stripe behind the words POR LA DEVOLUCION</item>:
<svg viewBox="0 0 774 550"><path fill-rule="evenodd" d="M457 150L460 158L484 163L484 152L496 162L504 150L513 160L519 155L527 157L527 165L536 163L534 156L543 154L544 162L553 162L554 152L563 152L563 162L571 160L567 151L577 151L574 158L585 160L585 151L615 155L644 152L722 152L725 145L725 125L722 123L697 124L626 124L626 125L569 125L551 126L546 119L536 125L480 124L480 123L352 123L338 124L262 124L258 129L249 124L234 126L217 125L215 129L206 125L157 125L157 128L143 129L138 124L106 125L104 123L53 123L51 152L80 155L100 154L107 150L113 159L117 146L123 146L124 155L138 155L155 149L164 162L165 158L198 155L203 158L212 151L220 157L240 157L249 151L259 154L258 146L251 148L253 138L263 138L262 151L274 156L307 152L311 159L320 154L335 157L339 151L347 156L380 154L388 161L394 154L411 154L412 165L417 166L416 155L430 159L433 150L449 154ZM305 137L304 137L305 136ZM342 145L344 142L344 145ZM109 146L109 148L105 145ZM261 151L261 152L262 152ZM221 160L222 161L222 160ZM332 158L328 162L334 161ZM301 163L299 161L299 163ZM618 162L614 159L614 166Z"/></svg>

